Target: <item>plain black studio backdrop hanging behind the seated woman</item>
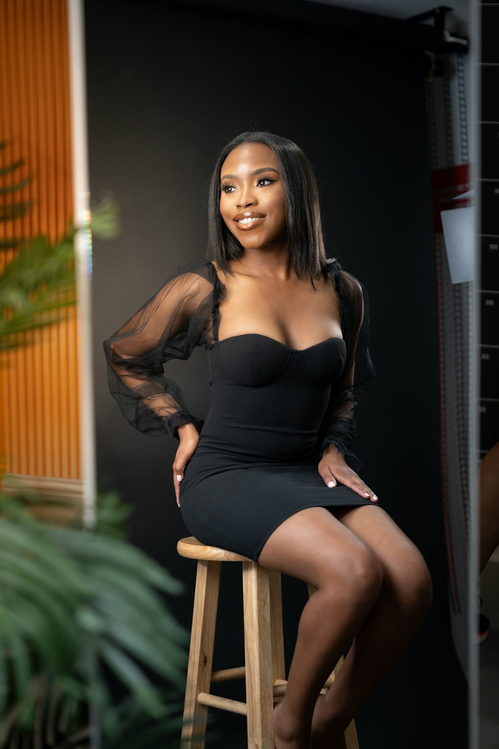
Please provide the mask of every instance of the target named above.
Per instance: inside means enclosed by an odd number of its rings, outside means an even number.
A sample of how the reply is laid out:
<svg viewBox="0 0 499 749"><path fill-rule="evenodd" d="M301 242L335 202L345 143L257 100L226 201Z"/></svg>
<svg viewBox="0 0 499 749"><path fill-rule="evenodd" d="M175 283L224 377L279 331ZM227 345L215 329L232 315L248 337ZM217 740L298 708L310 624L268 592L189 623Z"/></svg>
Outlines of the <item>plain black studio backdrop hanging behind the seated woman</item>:
<svg viewBox="0 0 499 749"><path fill-rule="evenodd" d="M331 8L331 13L334 9ZM242 9L239 8L239 13ZM190 628L195 562L174 497L177 441L129 427L106 383L102 340L174 267L202 258L206 188L224 142L269 130L297 142L319 181L328 255L367 287L378 375L358 404L355 451L380 505L429 564L434 603L417 639L356 718L362 749L461 748L466 682L450 641L438 471L438 369L423 54L414 47L242 18L189 4L86 0L88 133L94 204L110 187L123 233L94 240L97 473L133 506L130 539L189 592L169 603ZM209 408L205 354L168 365L193 413ZM236 595L234 595L236 591ZM287 667L304 583L283 576ZM244 663L240 565L224 565L215 668ZM244 700L242 682L217 685ZM220 749L245 719L210 711Z"/></svg>

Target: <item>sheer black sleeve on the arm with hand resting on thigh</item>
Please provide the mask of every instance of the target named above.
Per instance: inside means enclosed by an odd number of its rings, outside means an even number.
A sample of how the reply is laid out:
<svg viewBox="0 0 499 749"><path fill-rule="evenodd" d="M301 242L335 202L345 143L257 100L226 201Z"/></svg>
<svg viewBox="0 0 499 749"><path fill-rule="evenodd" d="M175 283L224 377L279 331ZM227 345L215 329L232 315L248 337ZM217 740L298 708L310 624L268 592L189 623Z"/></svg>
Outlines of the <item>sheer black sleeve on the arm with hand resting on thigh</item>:
<svg viewBox="0 0 499 749"><path fill-rule="evenodd" d="M355 440L354 410L357 396L366 392L376 377L369 352L369 297L364 285L336 262L331 266L335 288L340 300L346 362L340 377L331 386L328 408L319 430L322 446L333 444L345 455L346 464L358 471L361 461L352 452Z"/></svg>

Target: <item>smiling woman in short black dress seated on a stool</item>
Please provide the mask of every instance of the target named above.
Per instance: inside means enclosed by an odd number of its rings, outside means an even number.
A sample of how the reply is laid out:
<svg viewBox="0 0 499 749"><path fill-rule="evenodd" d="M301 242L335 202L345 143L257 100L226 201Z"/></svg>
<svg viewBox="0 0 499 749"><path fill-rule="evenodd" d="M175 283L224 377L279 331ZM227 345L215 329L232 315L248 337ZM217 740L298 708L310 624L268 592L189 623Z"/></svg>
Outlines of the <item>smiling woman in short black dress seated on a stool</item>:
<svg viewBox="0 0 499 749"><path fill-rule="evenodd" d="M307 157L270 133L242 133L219 155L207 257L174 270L104 342L110 389L135 428L180 440L174 488L192 535L316 586L275 747L311 736L334 749L432 601L426 562L351 450L355 396L375 376L367 292L325 256ZM195 346L212 377L204 421L163 373Z"/></svg>

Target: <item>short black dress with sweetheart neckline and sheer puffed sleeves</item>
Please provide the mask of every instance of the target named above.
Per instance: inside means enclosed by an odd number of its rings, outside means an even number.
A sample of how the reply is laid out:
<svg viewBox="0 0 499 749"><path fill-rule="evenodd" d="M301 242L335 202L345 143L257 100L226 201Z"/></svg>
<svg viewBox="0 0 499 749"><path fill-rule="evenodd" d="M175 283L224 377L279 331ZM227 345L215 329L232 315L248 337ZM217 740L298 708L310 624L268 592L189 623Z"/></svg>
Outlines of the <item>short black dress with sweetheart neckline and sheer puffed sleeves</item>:
<svg viewBox="0 0 499 749"><path fill-rule="evenodd" d="M200 432L180 485L180 512L200 542L257 561L266 539L312 506L378 505L342 484L328 487L317 464L334 443L355 471L355 396L375 377L364 286L328 260L343 338L296 350L260 333L218 341L218 303L227 296L215 266L192 261L168 276L103 342L111 394L144 434L192 422ZM203 346L213 397L206 419L189 412L163 365Z"/></svg>

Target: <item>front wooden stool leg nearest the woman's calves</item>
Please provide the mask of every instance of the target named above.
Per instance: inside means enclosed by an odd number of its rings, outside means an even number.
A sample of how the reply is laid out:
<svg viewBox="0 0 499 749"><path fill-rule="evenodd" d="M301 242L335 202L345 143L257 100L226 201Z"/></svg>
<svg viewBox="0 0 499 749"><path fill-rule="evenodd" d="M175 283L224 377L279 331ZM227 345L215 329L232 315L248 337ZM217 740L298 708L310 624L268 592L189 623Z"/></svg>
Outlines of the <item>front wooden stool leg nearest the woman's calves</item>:
<svg viewBox="0 0 499 749"><path fill-rule="evenodd" d="M248 749L275 749L269 570L242 562Z"/></svg>

